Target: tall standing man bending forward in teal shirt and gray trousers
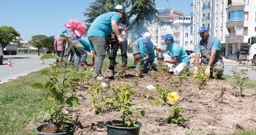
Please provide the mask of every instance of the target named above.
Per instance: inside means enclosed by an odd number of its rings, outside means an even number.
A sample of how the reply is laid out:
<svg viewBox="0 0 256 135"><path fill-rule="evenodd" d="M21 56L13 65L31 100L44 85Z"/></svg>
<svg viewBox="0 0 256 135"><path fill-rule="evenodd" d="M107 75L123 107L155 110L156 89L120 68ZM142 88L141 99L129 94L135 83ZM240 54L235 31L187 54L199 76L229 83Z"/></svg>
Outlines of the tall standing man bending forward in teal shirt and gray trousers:
<svg viewBox="0 0 256 135"><path fill-rule="evenodd" d="M116 9L114 12L107 12L97 17L88 29L88 40L96 54L96 75L93 78L94 81L109 81L108 78L104 78L101 74L103 60L106 56L107 37L113 31L118 37L119 43L124 44L125 40L121 37L118 29L118 23L123 22L124 20L125 10Z"/></svg>

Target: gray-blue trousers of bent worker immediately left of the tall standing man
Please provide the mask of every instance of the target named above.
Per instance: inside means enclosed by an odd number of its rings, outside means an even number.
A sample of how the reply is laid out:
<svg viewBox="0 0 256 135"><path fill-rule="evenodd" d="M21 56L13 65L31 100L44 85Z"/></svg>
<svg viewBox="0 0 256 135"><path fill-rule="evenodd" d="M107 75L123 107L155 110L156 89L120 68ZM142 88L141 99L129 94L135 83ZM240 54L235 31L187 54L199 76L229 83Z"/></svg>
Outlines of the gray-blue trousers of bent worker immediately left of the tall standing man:
<svg viewBox="0 0 256 135"><path fill-rule="evenodd" d="M77 67L81 67L83 66L83 63L86 60L87 57L87 52L85 51L85 49L81 49L81 48L74 48L74 51L76 52L76 66Z"/></svg>

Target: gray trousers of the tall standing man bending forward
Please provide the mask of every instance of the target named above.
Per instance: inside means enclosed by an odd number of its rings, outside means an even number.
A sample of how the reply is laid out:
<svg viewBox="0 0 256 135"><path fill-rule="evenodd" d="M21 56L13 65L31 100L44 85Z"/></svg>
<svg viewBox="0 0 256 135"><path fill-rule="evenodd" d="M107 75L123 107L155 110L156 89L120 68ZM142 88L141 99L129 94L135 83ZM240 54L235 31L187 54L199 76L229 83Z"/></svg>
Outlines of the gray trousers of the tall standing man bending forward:
<svg viewBox="0 0 256 135"><path fill-rule="evenodd" d="M101 74L103 61L106 57L107 40L105 37L92 36L88 37L90 44L96 54L95 59L95 73Z"/></svg>

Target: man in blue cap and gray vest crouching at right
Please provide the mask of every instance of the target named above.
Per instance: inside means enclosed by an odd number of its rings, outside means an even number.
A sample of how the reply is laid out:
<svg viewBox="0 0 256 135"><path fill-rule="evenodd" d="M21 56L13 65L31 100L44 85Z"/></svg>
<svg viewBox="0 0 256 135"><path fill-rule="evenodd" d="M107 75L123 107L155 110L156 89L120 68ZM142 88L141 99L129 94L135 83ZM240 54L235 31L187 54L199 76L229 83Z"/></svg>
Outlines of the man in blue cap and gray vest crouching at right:
<svg viewBox="0 0 256 135"><path fill-rule="evenodd" d="M195 60L193 64L195 64L194 77L197 77L197 66L199 64L199 56L201 54L201 64L206 66L205 73L207 78L213 75L211 72L211 67L213 65L217 65L216 69L216 77L218 79L223 76L224 66L223 60L220 56L220 40L216 37L210 36L207 27L199 28L200 37L202 38L199 43L197 43L195 47Z"/></svg>

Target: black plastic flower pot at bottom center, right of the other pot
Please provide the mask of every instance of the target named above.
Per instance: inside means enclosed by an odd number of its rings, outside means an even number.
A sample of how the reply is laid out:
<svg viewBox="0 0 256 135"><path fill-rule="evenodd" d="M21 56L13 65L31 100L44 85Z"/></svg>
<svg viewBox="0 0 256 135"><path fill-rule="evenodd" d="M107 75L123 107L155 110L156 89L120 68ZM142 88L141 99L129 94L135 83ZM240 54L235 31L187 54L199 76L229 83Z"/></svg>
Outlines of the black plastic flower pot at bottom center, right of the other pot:
<svg viewBox="0 0 256 135"><path fill-rule="evenodd" d="M140 123L137 127L117 127L113 124L122 124L121 120L111 120L107 122L107 135L138 135L140 132Z"/></svg>

